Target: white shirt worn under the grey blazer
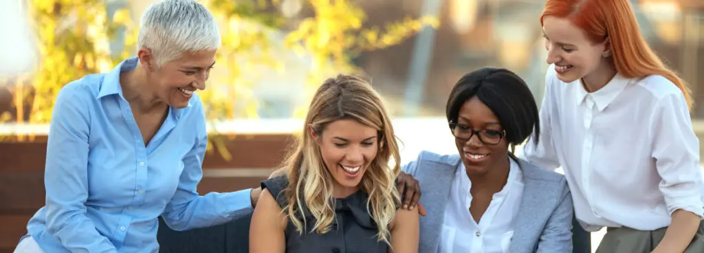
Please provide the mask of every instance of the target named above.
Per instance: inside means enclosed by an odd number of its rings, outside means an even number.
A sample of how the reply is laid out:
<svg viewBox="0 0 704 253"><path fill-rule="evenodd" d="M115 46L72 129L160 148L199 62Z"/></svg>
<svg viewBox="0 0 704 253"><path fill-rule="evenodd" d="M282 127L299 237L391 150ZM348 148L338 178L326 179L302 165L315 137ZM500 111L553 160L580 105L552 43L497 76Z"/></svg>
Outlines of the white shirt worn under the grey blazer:
<svg viewBox="0 0 704 253"><path fill-rule="evenodd" d="M508 252L513 237L513 221L523 196L523 173L516 161L510 160L506 185L496 192L479 224L470 214L472 183L465 166L460 163L453 179L449 202L445 207L440 245L441 253Z"/></svg>

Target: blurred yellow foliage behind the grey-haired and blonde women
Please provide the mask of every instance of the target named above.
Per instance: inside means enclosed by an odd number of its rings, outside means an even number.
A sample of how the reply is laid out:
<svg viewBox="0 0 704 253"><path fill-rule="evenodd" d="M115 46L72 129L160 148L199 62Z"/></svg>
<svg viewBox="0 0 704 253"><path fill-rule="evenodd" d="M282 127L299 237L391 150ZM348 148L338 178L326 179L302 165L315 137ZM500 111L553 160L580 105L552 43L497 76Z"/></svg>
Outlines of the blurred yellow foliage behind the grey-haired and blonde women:
<svg viewBox="0 0 704 253"><path fill-rule="evenodd" d="M433 17L406 18L384 27L365 27L364 11L345 0L300 0L311 15L291 25L278 11L280 0L201 0L218 20L222 33L222 48L217 66L225 68L222 75L211 76L208 89L199 95L206 107L206 118L213 132L218 121L236 115L255 118L258 99L253 95L255 80L246 78L256 68L280 71L284 63L272 48L282 42L284 47L312 59L306 83L310 97L324 80L326 73L356 73L351 59L363 51L382 49L398 44L421 30L425 25L436 27ZM13 90L18 123L49 123L58 90L68 82L91 73L106 72L115 64L134 54L137 24L130 13L121 9L112 19L106 13L103 0L31 0L30 17L34 20L42 61L33 75ZM130 15L131 14L131 15ZM125 51L111 58L108 49L113 32L123 27ZM280 33L283 37L277 36ZM283 41L282 41L283 40ZM26 89L23 84L31 84ZM23 104L31 104L30 118L22 118ZM306 107L293 109L294 116L303 117ZM236 112L240 113L236 113ZM244 112L244 113L241 113ZM7 119L6 115L0 120ZM210 138L220 154L229 159L222 139Z"/></svg>

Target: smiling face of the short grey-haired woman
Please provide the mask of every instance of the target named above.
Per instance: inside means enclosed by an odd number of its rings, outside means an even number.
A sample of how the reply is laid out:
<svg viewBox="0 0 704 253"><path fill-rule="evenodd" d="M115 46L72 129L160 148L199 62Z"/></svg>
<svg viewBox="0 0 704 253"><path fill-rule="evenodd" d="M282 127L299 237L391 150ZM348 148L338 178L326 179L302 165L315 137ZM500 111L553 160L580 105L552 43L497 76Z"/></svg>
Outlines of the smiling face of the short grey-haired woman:
<svg viewBox="0 0 704 253"><path fill-rule="evenodd" d="M195 90L205 90L210 69L215 64L217 50L201 50L186 52L181 57L164 63L156 68L156 62L146 54L151 61L147 67L147 82L153 87L153 93L161 100L175 108L188 106ZM144 52L140 50L140 58Z"/></svg>

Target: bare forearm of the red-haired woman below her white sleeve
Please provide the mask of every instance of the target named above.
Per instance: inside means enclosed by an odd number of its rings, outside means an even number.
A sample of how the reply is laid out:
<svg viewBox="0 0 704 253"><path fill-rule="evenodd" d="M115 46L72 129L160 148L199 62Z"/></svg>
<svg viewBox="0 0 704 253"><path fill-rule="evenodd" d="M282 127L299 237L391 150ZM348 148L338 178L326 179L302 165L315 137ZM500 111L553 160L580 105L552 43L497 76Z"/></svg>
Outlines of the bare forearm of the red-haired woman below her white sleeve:
<svg viewBox="0 0 704 253"><path fill-rule="evenodd" d="M684 252L699 228L701 218L689 211L678 209L672 213L672 223L665 231L653 252Z"/></svg>

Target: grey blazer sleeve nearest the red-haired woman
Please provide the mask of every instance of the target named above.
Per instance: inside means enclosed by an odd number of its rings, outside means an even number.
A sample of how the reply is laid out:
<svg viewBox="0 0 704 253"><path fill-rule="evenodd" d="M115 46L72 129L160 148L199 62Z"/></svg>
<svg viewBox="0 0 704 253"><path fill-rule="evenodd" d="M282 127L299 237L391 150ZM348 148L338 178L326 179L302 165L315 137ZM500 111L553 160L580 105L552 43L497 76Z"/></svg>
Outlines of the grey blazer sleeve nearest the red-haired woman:
<svg viewBox="0 0 704 253"><path fill-rule="evenodd" d="M572 195L565 179L562 185L560 202L540 235L538 253L572 252Z"/></svg>

